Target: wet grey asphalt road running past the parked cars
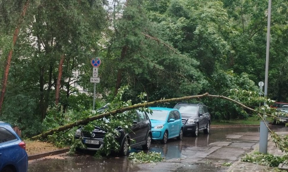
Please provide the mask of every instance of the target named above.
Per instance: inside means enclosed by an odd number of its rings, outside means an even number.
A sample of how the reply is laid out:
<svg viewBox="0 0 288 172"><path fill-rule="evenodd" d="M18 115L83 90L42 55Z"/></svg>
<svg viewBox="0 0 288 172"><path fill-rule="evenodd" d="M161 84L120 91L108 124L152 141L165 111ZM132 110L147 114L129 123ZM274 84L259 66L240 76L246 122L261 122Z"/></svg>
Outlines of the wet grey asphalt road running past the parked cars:
<svg viewBox="0 0 288 172"><path fill-rule="evenodd" d="M284 126L272 126L274 131L288 131ZM58 155L29 161L29 172L186 172L227 171L223 163L233 163L245 152L250 152L259 142L259 127L211 128L210 134L195 138L184 136L182 141L168 140L167 144L155 142L150 152L161 152L164 162L157 164L133 163L126 157L112 155L94 158L90 155ZM139 152L141 149L132 149Z"/></svg>

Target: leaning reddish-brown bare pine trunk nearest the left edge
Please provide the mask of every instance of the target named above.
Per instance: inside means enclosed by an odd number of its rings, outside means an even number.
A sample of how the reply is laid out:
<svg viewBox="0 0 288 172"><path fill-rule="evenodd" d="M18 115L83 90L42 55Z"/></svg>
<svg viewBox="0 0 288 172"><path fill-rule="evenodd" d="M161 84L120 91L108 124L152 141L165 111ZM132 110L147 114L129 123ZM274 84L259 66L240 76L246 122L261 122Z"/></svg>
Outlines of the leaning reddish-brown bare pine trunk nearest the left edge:
<svg viewBox="0 0 288 172"><path fill-rule="evenodd" d="M23 6L22 13L21 13L21 15L19 17L19 20L18 20L18 25L17 25L17 27L16 27L16 29L14 31L13 47L16 44L16 40L18 38L20 26L23 23L23 20L24 20L24 17L25 17L25 13L26 13L26 10L27 10L28 6L29 6L29 0L26 0L26 3ZM4 95L5 95L7 81L8 81L8 74L9 74L9 69L10 69L10 64L11 64L11 59L12 59L12 54L13 54L13 47L8 53L7 63L6 63L6 66L5 66L5 71L4 71L3 81L2 81L2 90L1 90L1 96L0 96L0 112L2 110L2 104L3 104L3 101L4 101Z"/></svg>

